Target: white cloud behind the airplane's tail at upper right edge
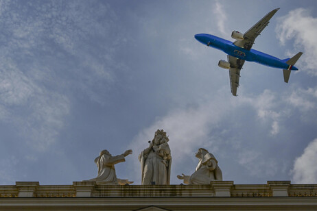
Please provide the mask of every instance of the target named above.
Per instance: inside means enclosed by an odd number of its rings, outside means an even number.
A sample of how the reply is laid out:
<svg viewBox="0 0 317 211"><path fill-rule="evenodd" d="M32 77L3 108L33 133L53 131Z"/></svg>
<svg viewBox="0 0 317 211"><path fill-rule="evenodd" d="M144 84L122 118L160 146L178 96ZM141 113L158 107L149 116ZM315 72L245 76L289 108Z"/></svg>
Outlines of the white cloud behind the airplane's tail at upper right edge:
<svg viewBox="0 0 317 211"><path fill-rule="evenodd" d="M303 51L298 60L301 69L308 69L308 73L317 76L317 18L310 16L310 10L298 8L279 18L276 32L280 42L285 45L287 40L294 40L294 51ZM294 53L289 53L294 55Z"/></svg>

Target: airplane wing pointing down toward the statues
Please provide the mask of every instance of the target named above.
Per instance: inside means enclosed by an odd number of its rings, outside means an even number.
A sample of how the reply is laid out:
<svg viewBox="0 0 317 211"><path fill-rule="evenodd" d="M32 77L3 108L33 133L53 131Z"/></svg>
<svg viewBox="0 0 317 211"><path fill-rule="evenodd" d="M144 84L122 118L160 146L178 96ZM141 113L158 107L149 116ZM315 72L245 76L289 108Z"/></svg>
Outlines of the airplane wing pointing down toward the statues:
<svg viewBox="0 0 317 211"><path fill-rule="evenodd" d="M233 96L237 96L237 88L239 87L239 77L242 66L244 65L244 60L240 60L231 55L228 55L228 62L231 68L229 69L230 86L231 93Z"/></svg>

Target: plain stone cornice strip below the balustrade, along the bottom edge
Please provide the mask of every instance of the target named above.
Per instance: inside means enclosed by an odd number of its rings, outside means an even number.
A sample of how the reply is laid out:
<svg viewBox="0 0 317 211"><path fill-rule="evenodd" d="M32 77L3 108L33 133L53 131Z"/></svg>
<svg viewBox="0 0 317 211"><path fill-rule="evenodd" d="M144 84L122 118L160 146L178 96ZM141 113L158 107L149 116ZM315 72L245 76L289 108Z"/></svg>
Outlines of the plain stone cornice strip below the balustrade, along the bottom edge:
<svg viewBox="0 0 317 211"><path fill-rule="evenodd" d="M316 210L316 197L3 198L0 210Z"/></svg>

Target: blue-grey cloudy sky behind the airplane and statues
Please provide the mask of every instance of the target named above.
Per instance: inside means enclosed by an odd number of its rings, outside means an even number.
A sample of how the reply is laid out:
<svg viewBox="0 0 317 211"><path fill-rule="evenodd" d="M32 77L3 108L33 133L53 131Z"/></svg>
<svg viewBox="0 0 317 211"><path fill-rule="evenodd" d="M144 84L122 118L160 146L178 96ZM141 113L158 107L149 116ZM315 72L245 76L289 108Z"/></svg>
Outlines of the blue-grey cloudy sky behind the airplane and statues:
<svg viewBox="0 0 317 211"><path fill-rule="evenodd" d="M228 40L281 8L254 49L304 54L289 84L253 62L231 95ZM172 184L198 148L224 180L317 183L316 1L0 1L0 184L72 184L97 175L102 149L132 149L117 176L141 184L137 156L169 135Z"/></svg>

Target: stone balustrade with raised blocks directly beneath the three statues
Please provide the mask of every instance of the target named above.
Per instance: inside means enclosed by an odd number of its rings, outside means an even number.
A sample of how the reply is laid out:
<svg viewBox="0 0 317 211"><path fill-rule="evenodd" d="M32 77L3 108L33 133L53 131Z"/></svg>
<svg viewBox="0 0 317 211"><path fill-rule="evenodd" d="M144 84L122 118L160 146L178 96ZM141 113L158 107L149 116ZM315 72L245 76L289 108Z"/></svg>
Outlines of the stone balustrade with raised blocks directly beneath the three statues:
<svg viewBox="0 0 317 211"><path fill-rule="evenodd" d="M73 185L41 186L39 182L16 182L15 186L0 186L0 197L317 197L317 184L214 181L209 185L105 186L95 182L73 182Z"/></svg>

